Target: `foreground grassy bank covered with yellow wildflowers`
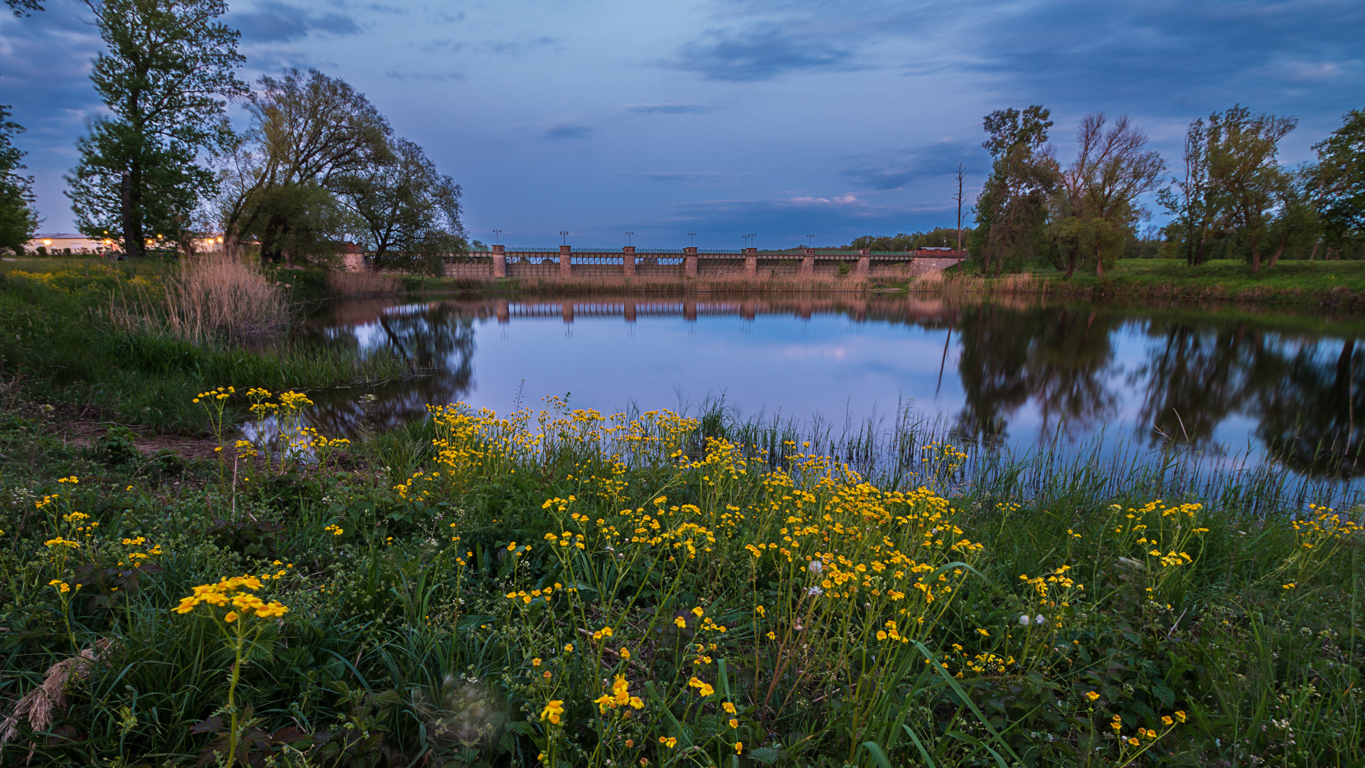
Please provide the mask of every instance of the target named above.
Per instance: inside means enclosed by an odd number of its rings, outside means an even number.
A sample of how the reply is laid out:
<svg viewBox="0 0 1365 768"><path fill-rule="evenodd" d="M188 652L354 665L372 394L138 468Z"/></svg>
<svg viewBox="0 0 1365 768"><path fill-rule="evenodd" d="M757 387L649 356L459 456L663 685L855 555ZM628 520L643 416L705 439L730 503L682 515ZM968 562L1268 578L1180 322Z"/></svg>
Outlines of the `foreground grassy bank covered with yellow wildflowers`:
<svg viewBox="0 0 1365 768"><path fill-rule="evenodd" d="M1365 763L1360 508L1269 469L920 435L861 477L721 411L553 400L149 465L20 413L8 760Z"/></svg>

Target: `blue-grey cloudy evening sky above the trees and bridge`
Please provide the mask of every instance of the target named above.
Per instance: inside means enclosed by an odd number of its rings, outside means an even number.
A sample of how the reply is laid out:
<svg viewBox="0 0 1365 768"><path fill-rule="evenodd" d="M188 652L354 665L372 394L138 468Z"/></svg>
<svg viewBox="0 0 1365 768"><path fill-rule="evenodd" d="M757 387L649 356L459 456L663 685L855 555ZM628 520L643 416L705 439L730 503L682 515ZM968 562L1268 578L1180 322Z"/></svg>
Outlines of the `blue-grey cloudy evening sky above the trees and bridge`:
<svg viewBox="0 0 1365 768"><path fill-rule="evenodd" d="M0 104L46 221L102 105L75 0L0 20ZM1282 159L1365 108L1360 0L235 0L244 79L315 67L362 90L464 186L474 236L526 246L841 245L953 225L988 159L981 116L1044 104L1066 159L1082 115L1129 113L1179 160L1185 124L1294 115Z"/></svg>

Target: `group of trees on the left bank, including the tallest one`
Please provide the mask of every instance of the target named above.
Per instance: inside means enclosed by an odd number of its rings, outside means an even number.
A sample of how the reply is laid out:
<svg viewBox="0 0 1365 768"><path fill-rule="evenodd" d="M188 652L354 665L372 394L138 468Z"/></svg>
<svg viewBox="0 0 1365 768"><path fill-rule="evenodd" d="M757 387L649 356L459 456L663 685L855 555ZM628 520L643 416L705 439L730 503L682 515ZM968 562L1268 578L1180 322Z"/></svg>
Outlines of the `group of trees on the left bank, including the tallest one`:
<svg viewBox="0 0 1365 768"><path fill-rule="evenodd" d="M34 0L5 0L16 15ZM86 0L105 44L91 81L109 115L78 141L66 176L76 228L128 256L224 250L265 261L332 261L348 242L377 266L438 271L467 249L461 190L369 100L315 70L238 78L240 34L222 0ZM235 130L229 104L248 124ZM0 108L0 247L38 225L31 179L18 175L19 126Z"/></svg>

